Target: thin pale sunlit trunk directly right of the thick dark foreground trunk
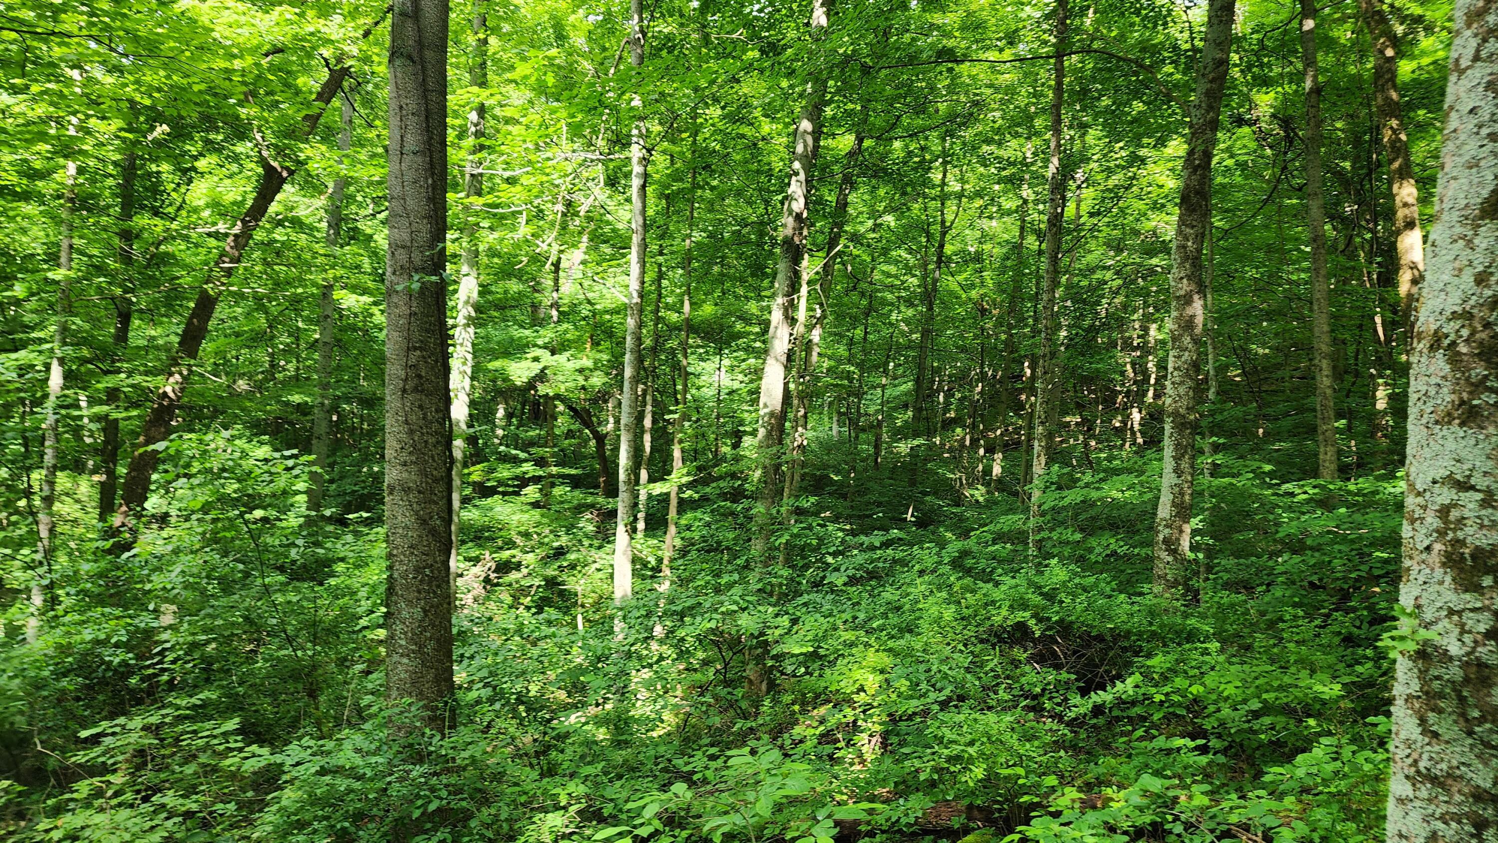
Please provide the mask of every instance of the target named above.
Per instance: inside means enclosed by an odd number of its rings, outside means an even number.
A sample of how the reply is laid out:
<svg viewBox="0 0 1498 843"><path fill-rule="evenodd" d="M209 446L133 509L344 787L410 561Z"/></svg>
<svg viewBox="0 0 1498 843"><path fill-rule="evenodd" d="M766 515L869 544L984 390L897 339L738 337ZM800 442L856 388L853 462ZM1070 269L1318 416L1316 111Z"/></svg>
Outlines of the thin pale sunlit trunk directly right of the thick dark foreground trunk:
<svg viewBox="0 0 1498 843"><path fill-rule="evenodd" d="M488 15L478 0L469 16L473 28L473 46L469 55L469 87L488 87ZM473 199L484 195L484 100L469 108L467 141L469 156L463 172L463 196ZM452 373L448 391L452 397L449 416L452 419L452 548L448 551L448 587L457 599L458 588L458 536L463 526L463 460L467 451L469 407L473 403L473 332L478 319L478 225L470 216L463 225L463 247L458 258L458 296L452 326ZM553 267L554 271L554 267ZM554 412L551 415L556 415ZM550 419L551 415L547 418ZM550 460L550 457L548 457Z"/></svg>

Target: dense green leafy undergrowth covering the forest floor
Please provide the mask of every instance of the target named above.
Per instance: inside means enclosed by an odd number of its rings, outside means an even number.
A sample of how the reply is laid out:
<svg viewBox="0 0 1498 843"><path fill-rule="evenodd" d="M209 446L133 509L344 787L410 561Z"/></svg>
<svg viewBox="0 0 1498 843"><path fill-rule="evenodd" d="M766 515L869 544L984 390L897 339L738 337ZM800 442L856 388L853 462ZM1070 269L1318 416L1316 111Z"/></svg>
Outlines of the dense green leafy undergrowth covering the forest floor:
<svg viewBox="0 0 1498 843"><path fill-rule="evenodd" d="M1381 837L1392 476L1224 461L1186 603L1149 593L1143 461L1059 476L1040 554L1007 497L903 521L908 500L812 494L774 570L745 563L724 481L620 635L596 500L484 499L460 723L394 743L377 529L307 520L303 460L192 445L168 526L124 560L78 551L78 611L4 650L7 839ZM767 698L746 642L770 648Z"/></svg>

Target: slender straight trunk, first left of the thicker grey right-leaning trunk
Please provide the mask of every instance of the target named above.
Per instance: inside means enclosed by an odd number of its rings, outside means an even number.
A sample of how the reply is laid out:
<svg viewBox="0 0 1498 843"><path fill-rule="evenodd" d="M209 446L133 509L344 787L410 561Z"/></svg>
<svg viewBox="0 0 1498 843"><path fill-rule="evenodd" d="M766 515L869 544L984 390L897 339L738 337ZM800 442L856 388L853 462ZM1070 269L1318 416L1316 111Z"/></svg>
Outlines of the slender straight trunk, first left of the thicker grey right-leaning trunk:
<svg viewBox="0 0 1498 843"><path fill-rule="evenodd" d="M1056 443L1052 427L1052 407L1056 406L1056 389L1061 385L1056 373L1056 287L1061 281L1061 226L1067 214L1067 184L1061 174L1061 109L1067 93L1067 0L1056 0L1056 58L1050 90L1050 165L1046 177L1046 277L1040 293L1040 352L1035 373L1035 434L1031 457L1031 485L1046 476L1050 454ZM1029 496L1029 544L1031 553L1040 550L1040 490Z"/></svg>

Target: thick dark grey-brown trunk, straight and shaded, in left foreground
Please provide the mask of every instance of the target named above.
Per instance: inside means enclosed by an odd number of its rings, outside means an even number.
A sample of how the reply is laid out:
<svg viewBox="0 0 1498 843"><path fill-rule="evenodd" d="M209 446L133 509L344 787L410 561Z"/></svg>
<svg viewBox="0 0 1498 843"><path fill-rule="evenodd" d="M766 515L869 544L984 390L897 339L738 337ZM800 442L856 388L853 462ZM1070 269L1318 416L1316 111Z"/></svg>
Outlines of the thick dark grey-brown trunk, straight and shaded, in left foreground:
<svg viewBox="0 0 1498 843"><path fill-rule="evenodd" d="M448 415L448 3L397 0L385 250L385 696L443 731L452 698Z"/></svg>

